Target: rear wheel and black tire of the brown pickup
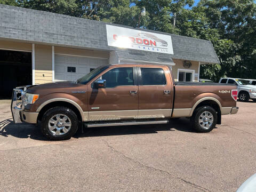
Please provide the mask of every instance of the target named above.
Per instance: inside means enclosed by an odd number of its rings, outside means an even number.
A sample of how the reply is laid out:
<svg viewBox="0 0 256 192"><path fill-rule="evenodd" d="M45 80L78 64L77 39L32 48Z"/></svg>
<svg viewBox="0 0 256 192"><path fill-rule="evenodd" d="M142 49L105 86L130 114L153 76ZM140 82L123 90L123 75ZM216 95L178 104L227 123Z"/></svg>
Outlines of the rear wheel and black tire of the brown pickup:
<svg viewBox="0 0 256 192"><path fill-rule="evenodd" d="M210 118L209 118L210 117ZM197 132L211 132L217 124L217 111L210 106L198 107L190 118Z"/></svg>

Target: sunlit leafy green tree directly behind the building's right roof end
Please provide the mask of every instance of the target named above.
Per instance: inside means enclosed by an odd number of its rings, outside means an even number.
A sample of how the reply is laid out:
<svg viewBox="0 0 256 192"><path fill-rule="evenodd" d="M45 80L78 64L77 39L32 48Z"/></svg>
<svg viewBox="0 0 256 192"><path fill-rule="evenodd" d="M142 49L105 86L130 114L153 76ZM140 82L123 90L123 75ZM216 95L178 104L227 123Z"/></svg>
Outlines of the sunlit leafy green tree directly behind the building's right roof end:
<svg viewBox="0 0 256 192"><path fill-rule="evenodd" d="M236 44L230 39L221 38L219 30L211 27L211 18L207 17L205 7L183 9L177 14L177 28L179 28L180 35L206 39L213 43L220 64L203 65L201 77L218 81L220 77L230 74L231 66L235 66L241 60L239 55L236 55Z"/></svg>

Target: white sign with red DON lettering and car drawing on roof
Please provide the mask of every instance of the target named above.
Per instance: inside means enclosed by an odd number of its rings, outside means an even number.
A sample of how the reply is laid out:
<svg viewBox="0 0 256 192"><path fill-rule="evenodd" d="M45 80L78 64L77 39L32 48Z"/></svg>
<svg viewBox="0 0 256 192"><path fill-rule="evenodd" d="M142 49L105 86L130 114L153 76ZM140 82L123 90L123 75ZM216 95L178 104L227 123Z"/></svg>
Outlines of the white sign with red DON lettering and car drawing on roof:
<svg viewBox="0 0 256 192"><path fill-rule="evenodd" d="M106 25L109 46L173 54L170 35Z"/></svg>

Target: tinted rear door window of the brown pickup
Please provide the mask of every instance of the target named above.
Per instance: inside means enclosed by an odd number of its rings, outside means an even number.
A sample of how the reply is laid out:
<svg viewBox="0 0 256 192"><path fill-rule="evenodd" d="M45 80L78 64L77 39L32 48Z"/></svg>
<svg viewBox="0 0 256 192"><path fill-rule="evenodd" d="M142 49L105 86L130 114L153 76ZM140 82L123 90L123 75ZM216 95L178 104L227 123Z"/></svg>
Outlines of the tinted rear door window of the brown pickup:
<svg viewBox="0 0 256 192"><path fill-rule="evenodd" d="M166 78L162 68L140 68L140 85L166 85Z"/></svg>

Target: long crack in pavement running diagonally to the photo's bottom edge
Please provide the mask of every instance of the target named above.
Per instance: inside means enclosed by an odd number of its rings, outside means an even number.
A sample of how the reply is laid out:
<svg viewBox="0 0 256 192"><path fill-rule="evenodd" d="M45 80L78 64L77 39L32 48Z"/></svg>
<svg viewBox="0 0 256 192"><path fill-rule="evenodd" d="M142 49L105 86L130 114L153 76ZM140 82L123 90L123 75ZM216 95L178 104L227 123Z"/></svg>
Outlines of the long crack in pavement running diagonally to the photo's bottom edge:
<svg viewBox="0 0 256 192"><path fill-rule="evenodd" d="M117 154L123 156L125 159L128 159L128 160L130 160L130 161L132 161L132 162L134 162L134 163L137 163L137 164L139 164L139 165L142 166L142 167L146 167L146 168L151 169L151 170L154 170L154 171L159 171L159 172L165 173L165 174L169 175L170 177L172 177L172 178L174 178L174 179L183 181L183 182L185 182L186 184L188 184L188 185L190 185L190 186L192 186L192 187L195 187L195 188L197 188L197 189L201 189L202 191L210 192L210 190L208 190L208 189L205 189L205 188L203 188L203 187L201 187L201 186L199 186L199 185L196 185L195 183L192 183L192 182L190 182L190 181L187 181L187 180L185 180L185 179L182 179L182 178L180 178L180 177L177 177L177 176L175 176L175 175L173 175L173 174L171 174L171 173L169 173L169 172L167 172L167 171L164 171L164 170L161 170L161 169L157 169L157 168L155 168L155 167L151 167L151 166L144 165L144 164L142 164L142 163L139 162L139 161L136 161L136 160L134 160L134 159L132 159L132 158L130 158L130 157L127 157L126 155L124 155L124 154L121 153L120 151L116 150L114 147L110 146L109 143L108 143L106 140L102 140L102 141L105 142L105 144L106 144L107 147L109 147L110 149L112 149L115 153L117 153Z"/></svg>

